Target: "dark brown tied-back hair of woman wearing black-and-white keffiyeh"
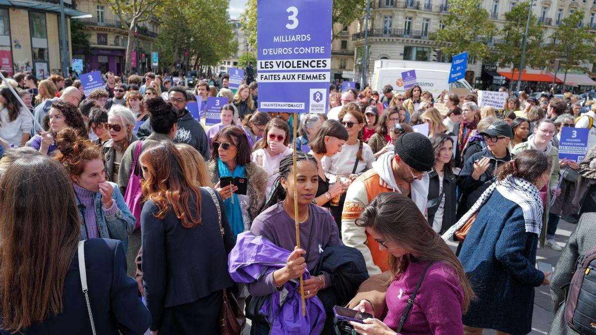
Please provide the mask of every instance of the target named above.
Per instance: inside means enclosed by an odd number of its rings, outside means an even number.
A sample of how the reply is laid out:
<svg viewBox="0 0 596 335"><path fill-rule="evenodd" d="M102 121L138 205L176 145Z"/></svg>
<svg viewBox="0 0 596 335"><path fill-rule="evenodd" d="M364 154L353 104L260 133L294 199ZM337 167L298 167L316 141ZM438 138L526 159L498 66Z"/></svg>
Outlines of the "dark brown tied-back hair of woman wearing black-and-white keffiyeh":
<svg viewBox="0 0 596 335"><path fill-rule="evenodd" d="M548 154L533 149L526 150L516 155L515 159L496 168L495 176L499 182L513 175L535 184L538 178L551 169L551 163Z"/></svg>

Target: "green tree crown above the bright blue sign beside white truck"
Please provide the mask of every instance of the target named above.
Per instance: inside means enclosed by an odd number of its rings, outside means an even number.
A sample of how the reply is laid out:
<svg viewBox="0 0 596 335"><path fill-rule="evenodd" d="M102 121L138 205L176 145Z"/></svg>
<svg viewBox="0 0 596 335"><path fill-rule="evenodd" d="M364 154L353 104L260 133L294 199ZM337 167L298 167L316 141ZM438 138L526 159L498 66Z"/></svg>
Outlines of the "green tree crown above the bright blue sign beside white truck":
<svg viewBox="0 0 596 335"><path fill-rule="evenodd" d="M443 20L444 29L435 38L443 55L454 56L467 51L468 57L489 60L493 57L489 44L497 29L489 20L481 0L450 0L449 15Z"/></svg>

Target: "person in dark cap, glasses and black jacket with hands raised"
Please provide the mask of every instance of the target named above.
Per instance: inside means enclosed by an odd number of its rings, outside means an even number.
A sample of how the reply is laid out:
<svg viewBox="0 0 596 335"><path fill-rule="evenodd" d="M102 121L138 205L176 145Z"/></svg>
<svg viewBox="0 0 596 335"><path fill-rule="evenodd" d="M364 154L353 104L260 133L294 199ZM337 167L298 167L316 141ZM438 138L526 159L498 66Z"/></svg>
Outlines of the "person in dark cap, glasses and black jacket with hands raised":
<svg viewBox="0 0 596 335"><path fill-rule="evenodd" d="M487 148L479 151L464 162L457 185L460 187L460 200L457 218L460 219L482 193L495 181L493 172L498 166L509 162L509 141L513 138L511 126L504 121L497 121L486 128L480 135L485 139Z"/></svg>

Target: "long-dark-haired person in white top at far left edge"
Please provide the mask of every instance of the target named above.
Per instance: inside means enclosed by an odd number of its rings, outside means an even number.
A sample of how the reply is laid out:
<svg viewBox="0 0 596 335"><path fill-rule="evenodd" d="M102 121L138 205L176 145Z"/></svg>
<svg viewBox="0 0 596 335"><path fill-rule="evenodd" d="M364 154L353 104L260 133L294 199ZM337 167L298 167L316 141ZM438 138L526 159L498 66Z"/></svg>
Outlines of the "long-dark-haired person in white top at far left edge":
<svg viewBox="0 0 596 335"><path fill-rule="evenodd" d="M22 147L31 136L33 114L18 103L8 87L0 89L0 106L0 138Z"/></svg>

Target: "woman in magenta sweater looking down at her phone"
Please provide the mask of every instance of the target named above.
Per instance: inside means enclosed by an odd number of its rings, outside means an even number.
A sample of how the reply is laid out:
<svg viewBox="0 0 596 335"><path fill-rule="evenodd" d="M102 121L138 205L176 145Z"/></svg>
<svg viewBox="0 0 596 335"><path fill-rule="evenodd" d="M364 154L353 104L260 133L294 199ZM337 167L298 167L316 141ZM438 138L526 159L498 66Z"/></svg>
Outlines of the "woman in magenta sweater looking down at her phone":
<svg viewBox="0 0 596 335"><path fill-rule="evenodd" d="M414 202L399 193L378 194L356 225L366 227L379 247L389 252L392 280L385 298L387 314L375 314L373 305L361 300L355 309L375 318L364 324L350 322L352 327L365 335L463 334L461 316L474 292L460 261Z"/></svg>

